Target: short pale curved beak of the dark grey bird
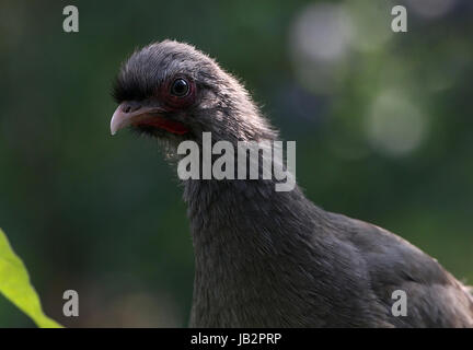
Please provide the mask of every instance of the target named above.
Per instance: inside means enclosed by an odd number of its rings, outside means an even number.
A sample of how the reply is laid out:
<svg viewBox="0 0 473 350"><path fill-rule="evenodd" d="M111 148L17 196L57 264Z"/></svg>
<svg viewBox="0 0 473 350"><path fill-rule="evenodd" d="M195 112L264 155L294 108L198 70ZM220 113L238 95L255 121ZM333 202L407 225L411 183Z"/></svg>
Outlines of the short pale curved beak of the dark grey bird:
<svg viewBox="0 0 473 350"><path fill-rule="evenodd" d="M139 102L125 101L115 109L112 116L111 132L115 135L118 130L130 125L147 124L162 112L163 109L160 107L150 107Z"/></svg>

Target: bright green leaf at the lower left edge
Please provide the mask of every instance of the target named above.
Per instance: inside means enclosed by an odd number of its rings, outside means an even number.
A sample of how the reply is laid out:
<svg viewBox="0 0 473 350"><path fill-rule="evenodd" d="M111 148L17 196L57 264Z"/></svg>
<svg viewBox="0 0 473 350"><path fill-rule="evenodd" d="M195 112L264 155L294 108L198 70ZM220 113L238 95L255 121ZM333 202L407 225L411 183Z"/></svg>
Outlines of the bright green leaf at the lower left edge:
<svg viewBox="0 0 473 350"><path fill-rule="evenodd" d="M20 257L0 229L0 293L28 315L42 328L62 328L43 313L39 298Z"/></svg>

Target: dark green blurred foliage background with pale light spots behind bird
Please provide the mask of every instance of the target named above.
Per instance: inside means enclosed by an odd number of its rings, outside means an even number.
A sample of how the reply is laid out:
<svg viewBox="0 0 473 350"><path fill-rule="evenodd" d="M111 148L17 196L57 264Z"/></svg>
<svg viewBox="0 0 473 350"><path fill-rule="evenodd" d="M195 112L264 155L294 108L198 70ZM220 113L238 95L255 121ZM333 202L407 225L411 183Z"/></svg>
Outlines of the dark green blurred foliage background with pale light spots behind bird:
<svg viewBox="0 0 473 350"><path fill-rule="evenodd" d="M79 9L79 33L62 9ZM391 31L404 4L408 32ZM181 327L193 249L154 141L112 138L111 83L176 38L241 77L297 143L321 207L382 225L473 283L473 2L13 1L0 5L0 226L69 327ZM62 293L80 316L62 316ZM0 295L0 326L33 323Z"/></svg>

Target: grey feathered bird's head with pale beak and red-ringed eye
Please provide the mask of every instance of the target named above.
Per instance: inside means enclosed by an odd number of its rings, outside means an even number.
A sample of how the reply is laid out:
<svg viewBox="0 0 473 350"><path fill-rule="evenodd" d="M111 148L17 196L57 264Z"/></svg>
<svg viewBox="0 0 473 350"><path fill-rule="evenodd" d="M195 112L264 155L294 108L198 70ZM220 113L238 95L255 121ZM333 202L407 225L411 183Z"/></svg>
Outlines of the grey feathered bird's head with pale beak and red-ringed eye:
<svg viewBox="0 0 473 350"><path fill-rule="evenodd" d="M215 60L191 45L154 43L122 66L113 95L118 107L111 132L131 127L166 141L273 139L246 90Z"/></svg>

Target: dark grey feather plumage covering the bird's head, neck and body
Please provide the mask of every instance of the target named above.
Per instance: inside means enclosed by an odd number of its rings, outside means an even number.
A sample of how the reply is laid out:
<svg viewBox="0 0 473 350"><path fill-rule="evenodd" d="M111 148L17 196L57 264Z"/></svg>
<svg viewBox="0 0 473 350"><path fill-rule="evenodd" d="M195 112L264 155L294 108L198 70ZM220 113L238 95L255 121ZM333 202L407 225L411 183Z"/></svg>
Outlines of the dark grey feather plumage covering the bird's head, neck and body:
<svg viewBox="0 0 473 350"><path fill-rule="evenodd" d="M169 96L163 86L175 77L193 95ZM114 95L159 105L161 117L185 126L178 135L134 124L174 163L178 142L199 143L203 131L214 142L278 138L242 84L186 44L136 51ZM277 192L274 185L183 182L195 249L192 327L473 326L472 295L435 259L383 229L324 211L297 186ZM406 292L407 316L391 313L395 290Z"/></svg>

